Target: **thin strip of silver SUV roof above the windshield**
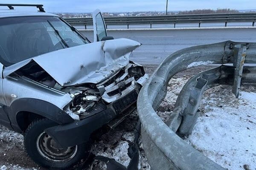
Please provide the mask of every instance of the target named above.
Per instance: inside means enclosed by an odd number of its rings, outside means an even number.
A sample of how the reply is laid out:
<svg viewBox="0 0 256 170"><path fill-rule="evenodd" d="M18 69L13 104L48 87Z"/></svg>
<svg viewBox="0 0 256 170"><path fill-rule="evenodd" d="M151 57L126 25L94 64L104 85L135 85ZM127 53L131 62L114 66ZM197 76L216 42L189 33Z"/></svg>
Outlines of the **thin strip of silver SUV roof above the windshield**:
<svg viewBox="0 0 256 170"><path fill-rule="evenodd" d="M58 15L50 14L47 12L35 12L35 11L16 11L15 9L0 10L0 18L5 17L30 17L30 16L53 16L58 17Z"/></svg>

